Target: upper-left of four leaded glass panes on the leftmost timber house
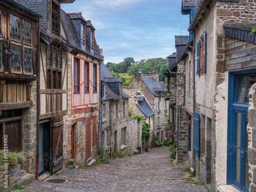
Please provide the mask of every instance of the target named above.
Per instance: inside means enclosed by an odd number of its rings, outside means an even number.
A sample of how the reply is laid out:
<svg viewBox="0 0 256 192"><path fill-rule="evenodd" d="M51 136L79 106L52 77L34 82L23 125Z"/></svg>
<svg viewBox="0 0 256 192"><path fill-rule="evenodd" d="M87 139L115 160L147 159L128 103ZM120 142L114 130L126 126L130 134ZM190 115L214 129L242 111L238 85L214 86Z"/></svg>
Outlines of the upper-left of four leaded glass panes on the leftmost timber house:
<svg viewBox="0 0 256 192"><path fill-rule="evenodd" d="M20 19L10 14L10 37L20 40Z"/></svg>

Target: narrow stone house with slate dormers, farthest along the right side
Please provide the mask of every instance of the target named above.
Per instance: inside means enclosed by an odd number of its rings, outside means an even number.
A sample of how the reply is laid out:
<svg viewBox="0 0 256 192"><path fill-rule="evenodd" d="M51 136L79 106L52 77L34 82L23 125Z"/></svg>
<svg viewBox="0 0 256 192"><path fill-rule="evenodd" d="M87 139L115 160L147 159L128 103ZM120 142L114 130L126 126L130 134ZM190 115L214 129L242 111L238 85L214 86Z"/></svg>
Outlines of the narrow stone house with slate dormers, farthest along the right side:
<svg viewBox="0 0 256 192"><path fill-rule="evenodd" d="M173 135L176 141L178 151L177 162L188 160L188 147L189 145L189 125L187 123L188 114L185 112L184 103L184 79L182 76L185 72L185 66L181 65L184 56L187 54L185 47L189 40L188 35L176 35L175 47L176 53L168 56L169 69L164 72L167 75L168 91L170 95L169 100L169 114L170 122L173 125Z"/></svg>

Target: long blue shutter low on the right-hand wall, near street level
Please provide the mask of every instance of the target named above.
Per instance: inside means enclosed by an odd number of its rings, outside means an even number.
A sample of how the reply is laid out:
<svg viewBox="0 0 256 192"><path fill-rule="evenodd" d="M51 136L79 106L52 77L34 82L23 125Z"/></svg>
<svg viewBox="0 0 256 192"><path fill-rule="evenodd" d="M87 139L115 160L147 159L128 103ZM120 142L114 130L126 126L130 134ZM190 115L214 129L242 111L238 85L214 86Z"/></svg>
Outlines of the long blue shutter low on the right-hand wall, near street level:
<svg viewBox="0 0 256 192"><path fill-rule="evenodd" d="M194 129L194 151L197 156L200 154L200 114L194 112L193 115L193 129Z"/></svg>

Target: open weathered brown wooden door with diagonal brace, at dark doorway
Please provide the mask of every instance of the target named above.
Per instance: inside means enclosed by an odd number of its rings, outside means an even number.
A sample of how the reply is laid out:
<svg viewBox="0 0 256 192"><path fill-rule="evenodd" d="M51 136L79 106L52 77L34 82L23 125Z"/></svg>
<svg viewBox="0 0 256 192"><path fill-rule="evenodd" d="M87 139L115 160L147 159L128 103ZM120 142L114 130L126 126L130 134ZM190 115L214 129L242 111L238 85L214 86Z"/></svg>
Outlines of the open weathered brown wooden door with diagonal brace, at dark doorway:
<svg viewBox="0 0 256 192"><path fill-rule="evenodd" d="M63 116L52 118L52 173L63 165Z"/></svg>

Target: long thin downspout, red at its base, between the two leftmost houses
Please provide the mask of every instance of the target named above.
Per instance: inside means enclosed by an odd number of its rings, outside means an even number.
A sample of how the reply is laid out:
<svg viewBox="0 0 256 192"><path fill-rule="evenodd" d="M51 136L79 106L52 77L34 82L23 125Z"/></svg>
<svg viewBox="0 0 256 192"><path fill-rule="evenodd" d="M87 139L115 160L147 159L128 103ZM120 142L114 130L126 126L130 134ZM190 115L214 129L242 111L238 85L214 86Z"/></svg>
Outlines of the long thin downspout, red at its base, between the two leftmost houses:
<svg viewBox="0 0 256 192"><path fill-rule="evenodd" d="M39 120L40 120L40 94L39 94L39 90L40 90L40 17L38 20L38 33L37 33L37 81L36 81L36 142L37 142L37 152L36 152L36 180L38 180L39 178Z"/></svg>

